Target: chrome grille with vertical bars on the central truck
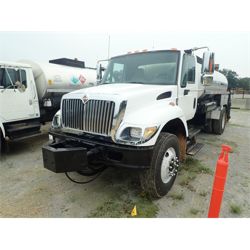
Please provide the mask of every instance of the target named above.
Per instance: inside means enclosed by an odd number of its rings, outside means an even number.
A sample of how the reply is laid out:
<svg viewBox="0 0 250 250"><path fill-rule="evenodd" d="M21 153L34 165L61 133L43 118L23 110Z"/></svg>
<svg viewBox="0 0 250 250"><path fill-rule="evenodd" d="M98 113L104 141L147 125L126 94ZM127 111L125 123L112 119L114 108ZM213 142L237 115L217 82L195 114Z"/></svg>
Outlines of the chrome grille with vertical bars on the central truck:
<svg viewBox="0 0 250 250"><path fill-rule="evenodd" d="M64 99L62 102L63 127L84 132L110 135L115 103L112 101Z"/></svg>

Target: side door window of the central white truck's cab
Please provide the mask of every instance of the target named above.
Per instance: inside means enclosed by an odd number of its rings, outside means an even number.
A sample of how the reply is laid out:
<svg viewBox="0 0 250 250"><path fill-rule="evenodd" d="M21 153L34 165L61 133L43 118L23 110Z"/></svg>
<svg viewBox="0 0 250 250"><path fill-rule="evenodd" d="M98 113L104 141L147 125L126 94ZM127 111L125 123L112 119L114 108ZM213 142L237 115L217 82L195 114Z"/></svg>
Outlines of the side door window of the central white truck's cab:
<svg viewBox="0 0 250 250"><path fill-rule="evenodd" d="M181 87L186 87L187 82L195 83L195 58L194 56L184 54L181 74Z"/></svg>

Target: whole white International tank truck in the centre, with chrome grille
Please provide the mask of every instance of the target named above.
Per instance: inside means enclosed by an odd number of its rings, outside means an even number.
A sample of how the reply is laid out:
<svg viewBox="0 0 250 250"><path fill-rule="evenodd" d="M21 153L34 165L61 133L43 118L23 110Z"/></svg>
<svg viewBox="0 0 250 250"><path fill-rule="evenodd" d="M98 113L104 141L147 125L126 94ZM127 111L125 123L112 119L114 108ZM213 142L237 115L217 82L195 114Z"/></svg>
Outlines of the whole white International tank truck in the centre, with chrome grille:
<svg viewBox="0 0 250 250"><path fill-rule="evenodd" d="M230 118L227 79L214 69L214 53L200 58L198 49L113 57L103 77L99 65L99 86L63 96L44 167L83 175L102 166L140 169L145 191L166 195L180 162L201 148L195 135L222 134Z"/></svg>

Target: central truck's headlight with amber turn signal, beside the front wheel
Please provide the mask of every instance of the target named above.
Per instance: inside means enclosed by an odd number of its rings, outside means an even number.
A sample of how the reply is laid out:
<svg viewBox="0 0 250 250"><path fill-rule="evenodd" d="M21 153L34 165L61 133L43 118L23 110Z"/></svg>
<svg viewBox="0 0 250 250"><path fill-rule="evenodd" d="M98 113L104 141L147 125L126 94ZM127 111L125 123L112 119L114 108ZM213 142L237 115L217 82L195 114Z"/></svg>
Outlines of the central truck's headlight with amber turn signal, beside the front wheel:
<svg viewBox="0 0 250 250"><path fill-rule="evenodd" d="M125 128L121 135L120 140L127 141L128 143L137 143L145 142L151 139L157 132L158 127L148 127L148 128L139 128L139 127L127 127Z"/></svg>

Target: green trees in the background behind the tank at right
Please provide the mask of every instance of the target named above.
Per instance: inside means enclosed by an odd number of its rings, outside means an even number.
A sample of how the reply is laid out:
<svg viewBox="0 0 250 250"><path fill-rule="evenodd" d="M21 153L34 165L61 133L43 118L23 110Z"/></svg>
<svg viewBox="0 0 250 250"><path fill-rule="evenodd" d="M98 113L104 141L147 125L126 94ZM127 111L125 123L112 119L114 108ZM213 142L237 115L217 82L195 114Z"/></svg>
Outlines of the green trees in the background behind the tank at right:
<svg viewBox="0 0 250 250"><path fill-rule="evenodd" d="M240 78L239 75L230 69L219 70L220 73L225 75L230 89L241 88L250 91L250 77Z"/></svg>

